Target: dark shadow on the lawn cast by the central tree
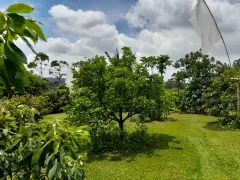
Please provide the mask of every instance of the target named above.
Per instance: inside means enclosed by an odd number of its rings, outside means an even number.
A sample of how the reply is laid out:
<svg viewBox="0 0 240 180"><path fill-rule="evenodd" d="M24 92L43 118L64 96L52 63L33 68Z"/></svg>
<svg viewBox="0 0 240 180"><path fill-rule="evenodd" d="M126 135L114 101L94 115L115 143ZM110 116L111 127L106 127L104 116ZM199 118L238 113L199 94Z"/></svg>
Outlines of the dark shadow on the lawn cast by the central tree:
<svg viewBox="0 0 240 180"><path fill-rule="evenodd" d="M180 144L180 141L177 141L174 136L169 136L166 134L148 134L148 139L150 142L147 145L138 150L126 150L122 152L111 152L111 153L102 153L102 154L90 154L88 156L88 163L94 161L122 161L126 160L126 162L130 163L135 161L135 158L138 155L146 155L147 157L158 157L160 156L155 150L165 150L165 149L174 149L174 150L182 150L181 147L177 147Z"/></svg>

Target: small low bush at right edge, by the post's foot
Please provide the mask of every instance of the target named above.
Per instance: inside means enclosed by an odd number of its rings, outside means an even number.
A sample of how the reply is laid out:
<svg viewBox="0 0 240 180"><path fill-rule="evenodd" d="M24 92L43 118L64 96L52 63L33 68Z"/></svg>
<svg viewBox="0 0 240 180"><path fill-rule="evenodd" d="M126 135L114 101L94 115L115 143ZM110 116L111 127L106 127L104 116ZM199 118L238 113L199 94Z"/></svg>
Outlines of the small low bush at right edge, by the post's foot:
<svg viewBox="0 0 240 180"><path fill-rule="evenodd" d="M240 129L240 118L236 116L227 116L220 119L221 125L232 130Z"/></svg>

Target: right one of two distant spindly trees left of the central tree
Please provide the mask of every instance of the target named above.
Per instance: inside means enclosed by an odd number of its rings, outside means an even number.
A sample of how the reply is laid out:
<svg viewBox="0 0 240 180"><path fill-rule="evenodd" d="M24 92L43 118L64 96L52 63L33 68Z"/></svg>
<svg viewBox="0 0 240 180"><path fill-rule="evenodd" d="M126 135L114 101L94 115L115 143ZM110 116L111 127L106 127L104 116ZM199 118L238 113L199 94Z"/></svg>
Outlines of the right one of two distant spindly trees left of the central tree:
<svg viewBox="0 0 240 180"><path fill-rule="evenodd" d="M66 73L63 72L63 69L68 67L68 63L66 61L58 61L54 60L51 62L51 69L49 70L49 74L53 75L57 78L57 83L59 84L60 80L66 76Z"/></svg>

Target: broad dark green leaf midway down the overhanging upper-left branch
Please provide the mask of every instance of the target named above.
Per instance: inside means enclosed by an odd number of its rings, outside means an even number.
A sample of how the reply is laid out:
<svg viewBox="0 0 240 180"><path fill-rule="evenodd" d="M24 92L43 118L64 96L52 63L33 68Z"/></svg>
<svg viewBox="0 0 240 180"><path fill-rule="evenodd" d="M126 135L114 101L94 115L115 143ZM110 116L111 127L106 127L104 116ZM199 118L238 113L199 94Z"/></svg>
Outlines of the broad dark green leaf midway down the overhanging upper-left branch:
<svg viewBox="0 0 240 180"><path fill-rule="evenodd" d="M4 44L4 53L7 59L11 60L14 64L19 65L19 61L27 63L25 54L12 42Z"/></svg>

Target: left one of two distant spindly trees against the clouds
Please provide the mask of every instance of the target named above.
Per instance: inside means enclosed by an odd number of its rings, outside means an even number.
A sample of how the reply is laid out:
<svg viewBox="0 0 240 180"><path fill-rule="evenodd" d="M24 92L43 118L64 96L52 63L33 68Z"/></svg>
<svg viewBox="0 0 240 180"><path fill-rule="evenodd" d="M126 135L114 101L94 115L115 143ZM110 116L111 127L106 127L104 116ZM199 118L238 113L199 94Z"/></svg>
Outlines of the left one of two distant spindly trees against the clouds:
<svg viewBox="0 0 240 180"><path fill-rule="evenodd" d="M44 53L37 53L33 62L30 62L27 66L30 69L35 69L40 72L40 76L43 77L44 67L48 65L49 57Z"/></svg>

